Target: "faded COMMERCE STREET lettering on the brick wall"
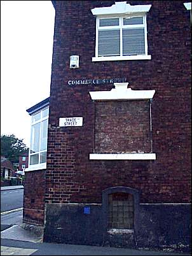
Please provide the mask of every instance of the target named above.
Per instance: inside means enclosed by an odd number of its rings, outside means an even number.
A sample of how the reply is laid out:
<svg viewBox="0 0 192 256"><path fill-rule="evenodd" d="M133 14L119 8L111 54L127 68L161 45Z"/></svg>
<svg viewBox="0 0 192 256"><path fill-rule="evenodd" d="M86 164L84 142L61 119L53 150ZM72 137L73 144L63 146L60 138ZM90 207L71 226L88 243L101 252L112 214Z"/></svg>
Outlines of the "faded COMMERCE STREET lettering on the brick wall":
<svg viewBox="0 0 192 256"><path fill-rule="evenodd" d="M106 83L125 83L126 78L105 78L105 79L80 79L80 80L68 80L67 85L99 85Z"/></svg>

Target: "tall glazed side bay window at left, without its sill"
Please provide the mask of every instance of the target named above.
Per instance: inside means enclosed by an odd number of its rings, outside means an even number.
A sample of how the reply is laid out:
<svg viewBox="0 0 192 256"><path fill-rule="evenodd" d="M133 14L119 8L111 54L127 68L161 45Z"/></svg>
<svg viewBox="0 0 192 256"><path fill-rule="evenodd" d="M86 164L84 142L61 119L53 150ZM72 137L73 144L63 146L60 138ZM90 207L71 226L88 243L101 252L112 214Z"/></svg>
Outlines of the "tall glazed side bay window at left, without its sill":
<svg viewBox="0 0 192 256"><path fill-rule="evenodd" d="M30 165L46 162L48 113L49 109L45 108L32 115L31 148L29 154Z"/></svg>

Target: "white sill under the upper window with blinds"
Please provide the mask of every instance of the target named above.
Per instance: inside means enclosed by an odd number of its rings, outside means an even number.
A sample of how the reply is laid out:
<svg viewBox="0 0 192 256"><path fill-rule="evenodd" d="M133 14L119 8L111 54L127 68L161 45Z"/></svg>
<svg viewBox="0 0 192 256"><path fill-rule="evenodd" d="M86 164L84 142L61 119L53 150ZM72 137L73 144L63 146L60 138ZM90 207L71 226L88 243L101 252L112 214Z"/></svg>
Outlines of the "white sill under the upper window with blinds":
<svg viewBox="0 0 192 256"><path fill-rule="evenodd" d="M113 61L113 60L151 60L151 55L92 57L93 62L94 61Z"/></svg>

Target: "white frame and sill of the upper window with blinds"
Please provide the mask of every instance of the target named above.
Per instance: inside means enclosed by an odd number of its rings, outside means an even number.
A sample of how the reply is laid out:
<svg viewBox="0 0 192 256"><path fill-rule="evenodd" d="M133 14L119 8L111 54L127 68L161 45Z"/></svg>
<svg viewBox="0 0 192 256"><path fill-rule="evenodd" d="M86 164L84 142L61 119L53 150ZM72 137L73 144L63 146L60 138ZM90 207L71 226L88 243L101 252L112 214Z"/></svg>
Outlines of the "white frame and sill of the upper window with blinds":
<svg viewBox="0 0 192 256"><path fill-rule="evenodd" d="M139 25L123 25L123 18L143 17L143 24ZM99 20L104 18L119 18L119 25L99 27ZM123 29L125 28L144 27L145 33L145 54L144 55L123 55ZM98 39L99 31L109 29L120 29L120 55L119 56L98 56ZM147 55L147 15L146 13L134 13L132 15L102 15L96 18L96 41L95 41L95 57L92 61L107 61L107 60L150 60L151 55Z"/></svg>

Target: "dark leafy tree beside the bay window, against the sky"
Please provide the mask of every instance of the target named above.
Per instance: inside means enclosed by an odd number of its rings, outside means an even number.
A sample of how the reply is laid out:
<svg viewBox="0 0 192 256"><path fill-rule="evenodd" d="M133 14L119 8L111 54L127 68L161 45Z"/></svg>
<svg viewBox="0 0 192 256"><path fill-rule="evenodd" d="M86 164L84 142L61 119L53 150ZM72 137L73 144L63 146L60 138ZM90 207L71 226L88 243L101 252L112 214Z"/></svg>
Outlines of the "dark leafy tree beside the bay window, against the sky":
<svg viewBox="0 0 192 256"><path fill-rule="evenodd" d="M1 155L12 163L18 162L18 157L27 153L27 150L23 139L16 138L14 134L1 136Z"/></svg>

